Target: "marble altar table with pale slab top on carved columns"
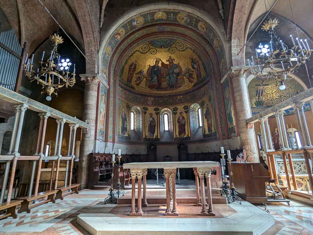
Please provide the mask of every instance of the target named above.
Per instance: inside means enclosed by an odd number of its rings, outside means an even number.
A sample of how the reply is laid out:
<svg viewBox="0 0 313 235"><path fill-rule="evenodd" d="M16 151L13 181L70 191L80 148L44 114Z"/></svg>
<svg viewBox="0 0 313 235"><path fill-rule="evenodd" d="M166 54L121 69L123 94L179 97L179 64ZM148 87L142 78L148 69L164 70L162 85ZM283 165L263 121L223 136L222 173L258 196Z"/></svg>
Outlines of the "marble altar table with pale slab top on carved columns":
<svg viewBox="0 0 313 235"><path fill-rule="evenodd" d="M178 216L177 204L176 204L176 172L177 168L193 168L196 175L196 197L197 205L200 205L199 200L199 184L198 177L200 178L200 191L201 191L201 214L214 216L213 204L212 204L212 192L211 192L211 169L218 167L218 162L211 161L195 161L195 162L135 162L123 164L124 169L130 169L131 172L131 213L130 215L143 215L142 201L144 206L147 205L146 201L146 175L147 169L164 169L164 175L166 179L166 214ZM208 209L205 203L205 191L204 191L204 177L207 179L207 194L208 194ZM137 189L137 210L135 208L135 195L136 195L136 178L138 179ZM141 179L143 178L143 198L141 199ZM172 191L173 191L173 209L170 207L170 178L172 179Z"/></svg>

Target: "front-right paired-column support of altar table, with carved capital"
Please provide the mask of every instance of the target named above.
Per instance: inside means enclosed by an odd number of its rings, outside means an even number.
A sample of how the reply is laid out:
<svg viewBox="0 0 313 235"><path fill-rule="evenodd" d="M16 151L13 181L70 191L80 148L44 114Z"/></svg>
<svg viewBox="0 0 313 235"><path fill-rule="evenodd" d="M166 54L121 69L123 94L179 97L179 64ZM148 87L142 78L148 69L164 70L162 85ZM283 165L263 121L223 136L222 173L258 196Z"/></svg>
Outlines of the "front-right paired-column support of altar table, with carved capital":
<svg viewBox="0 0 313 235"><path fill-rule="evenodd" d="M213 212L213 204L212 204L212 189L211 189L211 168L198 168L198 174L200 177L201 184L201 198L202 198L202 215L215 216ZM208 193L208 210L205 206L205 190L204 190L204 176L207 178L207 193Z"/></svg>

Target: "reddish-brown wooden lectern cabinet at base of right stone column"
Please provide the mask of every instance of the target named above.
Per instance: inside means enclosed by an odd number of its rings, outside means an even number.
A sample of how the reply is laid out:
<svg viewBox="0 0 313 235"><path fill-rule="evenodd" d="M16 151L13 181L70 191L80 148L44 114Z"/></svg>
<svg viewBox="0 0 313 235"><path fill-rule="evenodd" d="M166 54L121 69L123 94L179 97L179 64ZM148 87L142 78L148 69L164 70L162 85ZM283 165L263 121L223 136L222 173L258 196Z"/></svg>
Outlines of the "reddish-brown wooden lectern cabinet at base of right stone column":
<svg viewBox="0 0 313 235"><path fill-rule="evenodd" d="M231 167L238 196L250 203L267 203L265 183L271 179L269 171L260 163L232 162Z"/></svg>

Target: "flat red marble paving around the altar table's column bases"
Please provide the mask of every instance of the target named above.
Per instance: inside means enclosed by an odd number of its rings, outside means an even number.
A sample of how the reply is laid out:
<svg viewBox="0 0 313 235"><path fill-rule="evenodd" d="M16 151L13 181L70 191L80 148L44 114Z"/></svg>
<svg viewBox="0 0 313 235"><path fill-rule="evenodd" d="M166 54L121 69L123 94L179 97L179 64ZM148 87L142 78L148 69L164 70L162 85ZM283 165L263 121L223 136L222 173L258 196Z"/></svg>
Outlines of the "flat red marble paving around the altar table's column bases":
<svg viewBox="0 0 313 235"><path fill-rule="evenodd" d="M229 207L226 204L213 204L213 210L215 212L214 218L223 218L227 217L231 214L236 213L235 210L233 210L231 207ZM117 205L115 208L113 208L110 213L115 214L119 217L127 217L129 218L129 213L131 211L131 205ZM156 205L151 204L147 207L142 208L143 211L143 217L149 217L149 218L173 218L172 216L166 216L166 205ZM201 207L196 207L191 204L178 204L177 205L177 211L179 214L179 218L204 218L200 212ZM137 216L132 216L137 217ZM141 216L139 216L142 218Z"/></svg>

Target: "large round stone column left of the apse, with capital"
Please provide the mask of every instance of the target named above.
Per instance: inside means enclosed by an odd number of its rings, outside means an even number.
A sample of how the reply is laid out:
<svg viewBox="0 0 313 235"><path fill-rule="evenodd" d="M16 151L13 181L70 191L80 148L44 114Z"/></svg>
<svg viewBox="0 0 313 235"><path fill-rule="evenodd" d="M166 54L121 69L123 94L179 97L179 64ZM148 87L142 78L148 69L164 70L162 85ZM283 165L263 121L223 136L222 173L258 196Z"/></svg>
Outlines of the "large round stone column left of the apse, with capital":
<svg viewBox="0 0 313 235"><path fill-rule="evenodd" d="M89 154L94 149L96 104L99 78L96 74L82 74L81 81L85 81L83 121L89 123L89 129L84 130L80 144L80 161L78 182L81 188L87 188L89 173Z"/></svg>

